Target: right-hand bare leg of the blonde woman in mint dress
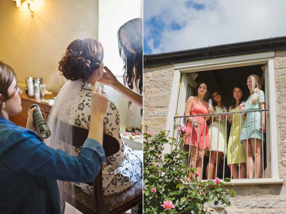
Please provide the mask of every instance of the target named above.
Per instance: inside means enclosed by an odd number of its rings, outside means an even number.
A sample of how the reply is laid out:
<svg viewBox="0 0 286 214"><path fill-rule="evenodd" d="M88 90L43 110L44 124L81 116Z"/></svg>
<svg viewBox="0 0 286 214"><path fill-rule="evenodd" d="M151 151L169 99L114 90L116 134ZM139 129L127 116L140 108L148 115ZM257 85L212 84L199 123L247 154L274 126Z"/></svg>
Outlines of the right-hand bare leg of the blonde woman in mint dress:
<svg viewBox="0 0 286 214"><path fill-rule="evenodd" d="M255 141L254 145L254 138L251 138L252 155L255 157L255 178L259 178L262 172L262 140L256 139Z"/></svg>

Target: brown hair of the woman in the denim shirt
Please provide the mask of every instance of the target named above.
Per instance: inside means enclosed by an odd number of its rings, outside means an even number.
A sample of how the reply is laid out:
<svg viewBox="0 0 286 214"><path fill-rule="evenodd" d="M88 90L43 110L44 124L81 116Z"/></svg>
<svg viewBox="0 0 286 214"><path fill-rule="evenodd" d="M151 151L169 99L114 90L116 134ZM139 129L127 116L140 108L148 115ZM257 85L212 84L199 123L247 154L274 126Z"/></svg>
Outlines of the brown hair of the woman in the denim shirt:
<svg viewBox="0 0 286 214"><path fill-rule="evenodd" d="M13 68L10 65L7 65L0 61L0 93L2 98L0 99L0 115L2 116L1 109L3 103L13 97L17 91L14 90L12 95L8 95L8 88L13 82L14 77L16 78L16 74Z"/></svg>

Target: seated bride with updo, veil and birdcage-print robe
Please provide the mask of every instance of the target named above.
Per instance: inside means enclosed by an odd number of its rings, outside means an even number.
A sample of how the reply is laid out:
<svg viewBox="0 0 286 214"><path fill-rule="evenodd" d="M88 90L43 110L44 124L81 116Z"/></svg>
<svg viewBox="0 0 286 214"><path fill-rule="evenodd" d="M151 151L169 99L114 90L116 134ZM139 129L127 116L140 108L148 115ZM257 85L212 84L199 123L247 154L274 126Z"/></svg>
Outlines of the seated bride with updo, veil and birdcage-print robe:
<svg viewBox="0 0 286 214"><path fill-rule="evenodd" d="M60 89L48 118L48 126L52 133L46 140L49 146L78 155L78 148L72 146L72 128L66 128L63 124L90 128L90 94L96 81L102 77L102 60L103 48L97 40L77 39L67 47L59 62L59 71L68 81ZM105 93L104 89L102 93ZM143 155L142 152L125 146L122 141L119 110L113 102L108 102L104 120L99 122L103 123L103 132L116 138L121 145L116 154L106 157L102 166L102 191L103 195L108 196L129 188L140 179ZM61 139L65 139L65 142ZM84 192L93 194L92 186L85 183L75 185Z"/></svg>

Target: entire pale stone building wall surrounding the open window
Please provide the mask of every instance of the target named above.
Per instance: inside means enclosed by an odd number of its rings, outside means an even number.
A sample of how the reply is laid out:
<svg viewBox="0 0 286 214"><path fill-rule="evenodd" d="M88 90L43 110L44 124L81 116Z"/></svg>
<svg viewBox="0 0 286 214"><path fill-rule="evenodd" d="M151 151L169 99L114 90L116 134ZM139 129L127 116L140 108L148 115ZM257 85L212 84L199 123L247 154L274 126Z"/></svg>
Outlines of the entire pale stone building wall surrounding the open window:
<svg viewBox="0 0 286 214"><path fill-rule="evenodd" d="M144 123L154 133L166 127L173 71L173 65L145 69ZM237 195L230 197L231 207L209 203L208 210L215 210L214 214L286 214L286 50L275 52L274 72L279 177L283 184L235 185Z"/></svg>

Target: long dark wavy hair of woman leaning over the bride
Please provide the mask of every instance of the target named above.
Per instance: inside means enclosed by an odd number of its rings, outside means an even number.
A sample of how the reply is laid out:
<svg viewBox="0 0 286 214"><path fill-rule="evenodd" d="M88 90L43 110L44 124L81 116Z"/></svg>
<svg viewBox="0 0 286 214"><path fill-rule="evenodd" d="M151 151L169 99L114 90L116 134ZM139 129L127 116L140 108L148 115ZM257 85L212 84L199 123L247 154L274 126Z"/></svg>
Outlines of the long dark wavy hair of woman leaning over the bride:
<svg viewBox="0 0 286 214"><path fill-rule="evenodd" d="M127 50L120 37L120 31L124 29L135 54ZM133 90L136 86L139 93L143 93L143 20L134 18L122 25L117 33L119 54L124 61L124 84ZM128 102L130 108L131 101ZM130 108L131 110L131 108ZM132 111L132 110L131 110ZM142 110L141 110L142 114Z"/></svg>

